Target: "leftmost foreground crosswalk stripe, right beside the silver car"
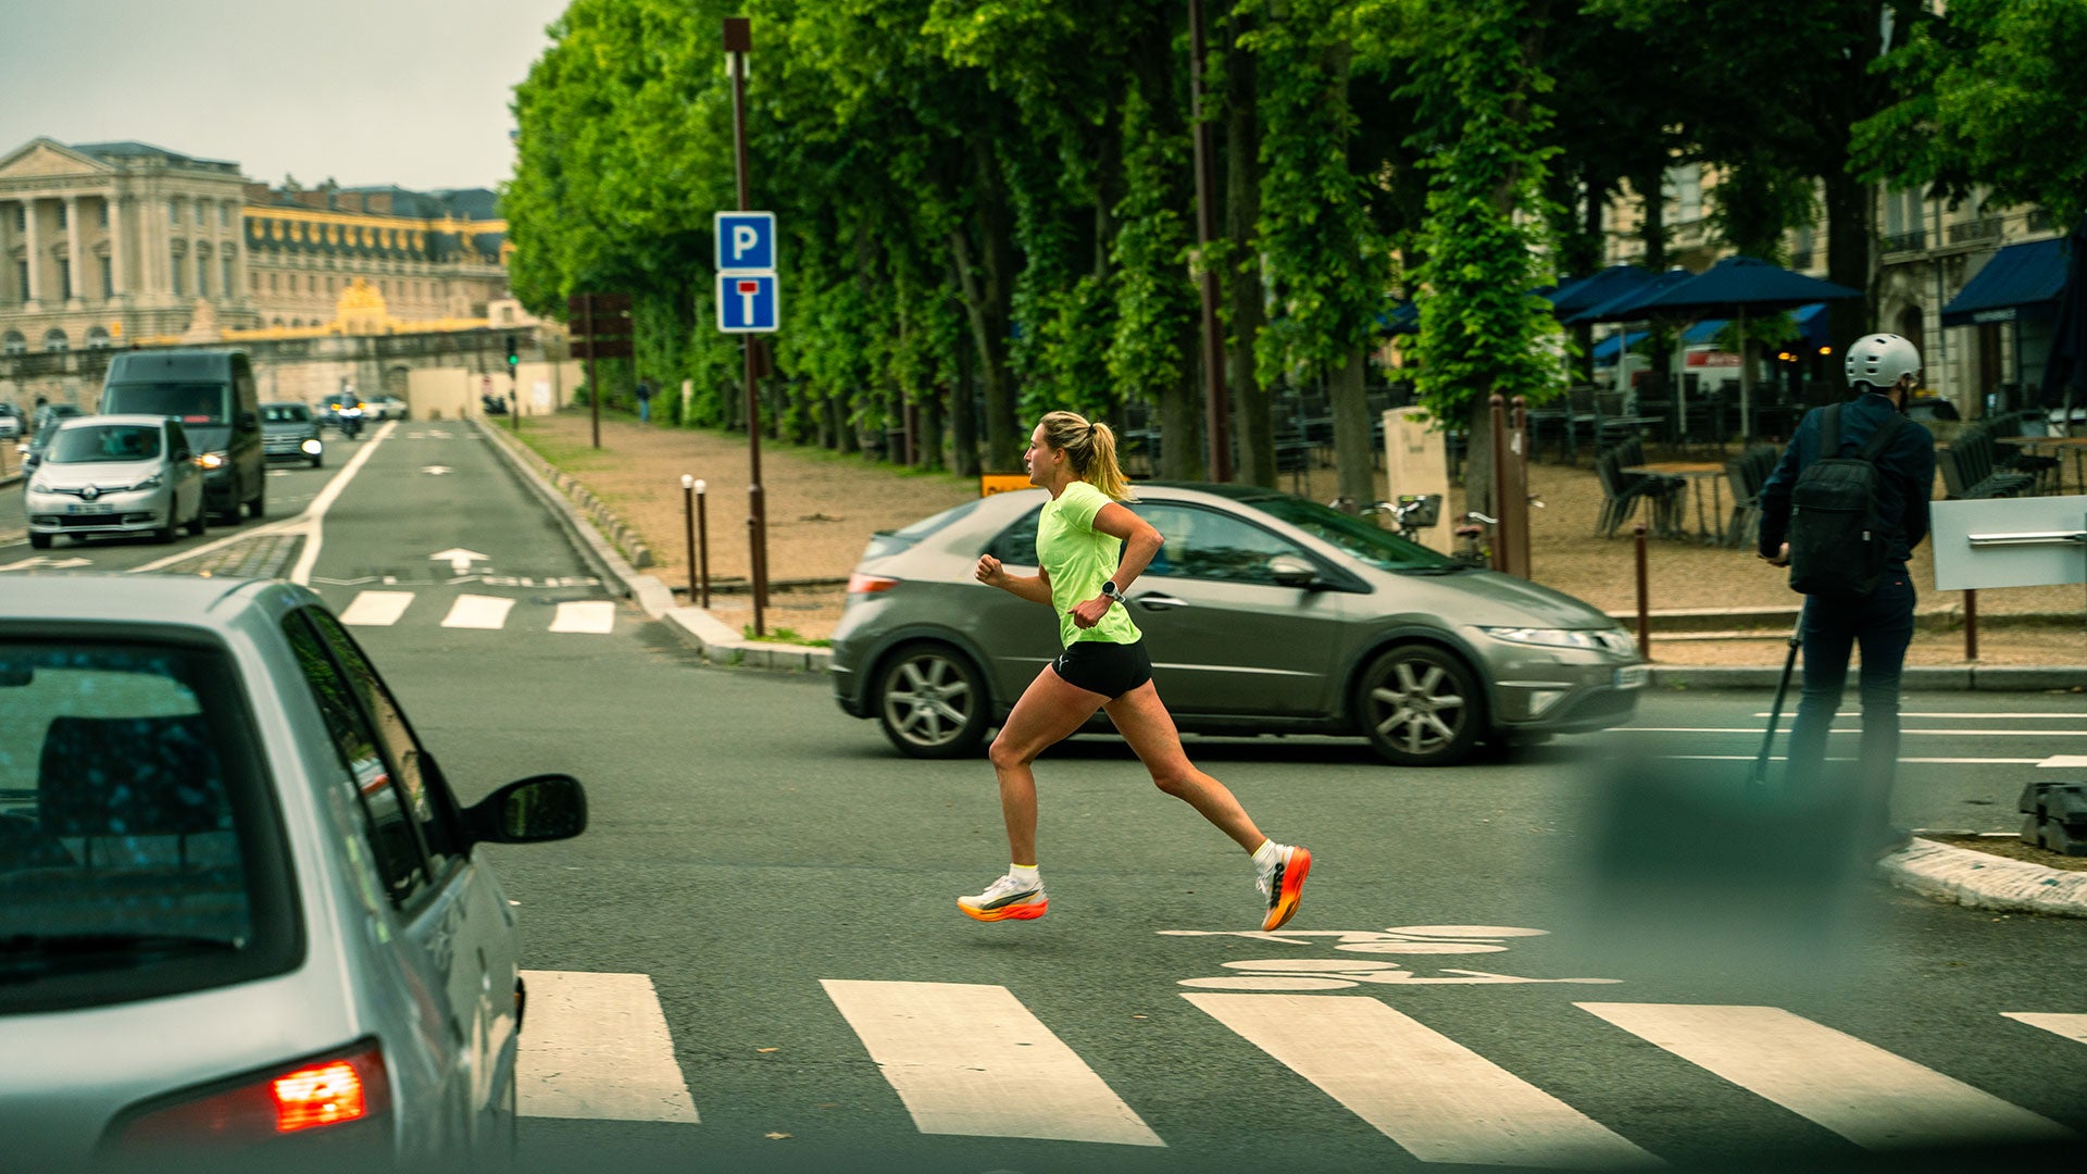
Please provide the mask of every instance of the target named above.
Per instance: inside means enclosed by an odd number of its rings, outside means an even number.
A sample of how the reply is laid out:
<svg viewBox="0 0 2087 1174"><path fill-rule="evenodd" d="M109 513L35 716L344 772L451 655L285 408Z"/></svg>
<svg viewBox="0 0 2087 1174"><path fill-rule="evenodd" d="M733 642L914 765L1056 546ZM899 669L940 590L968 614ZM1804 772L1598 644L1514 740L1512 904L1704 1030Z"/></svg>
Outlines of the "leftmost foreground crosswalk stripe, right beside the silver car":
<svg viewBox="0 0 2087 1174"><path fill-rule="evenodd" d="M649 976L526 969L522 982L524 1118L699 1122Z"/></svg>

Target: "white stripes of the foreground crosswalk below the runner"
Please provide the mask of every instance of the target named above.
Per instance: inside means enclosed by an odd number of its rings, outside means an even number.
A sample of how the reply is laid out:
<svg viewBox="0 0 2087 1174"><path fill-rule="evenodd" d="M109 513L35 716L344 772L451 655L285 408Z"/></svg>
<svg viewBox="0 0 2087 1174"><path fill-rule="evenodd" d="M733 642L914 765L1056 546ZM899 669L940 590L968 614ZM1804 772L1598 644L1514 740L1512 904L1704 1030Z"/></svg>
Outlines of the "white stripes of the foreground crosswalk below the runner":
<svg viewBox="0 0 2087 1174"><path fill-rule="evenodd" d="M524 971L524 1116L697 1124L647 976ZM922 1134L1165 1147L1133 1107L1169 1088L1112 1088L1006 986L822 980ZM1190 1005L1332 1097L1411 1157L1459 1166L1628 1170L1663 1157L1498 1063L1367 994L1183 992ZM2031 1109L1780 1007L1572 1003L1624 1036L1866 1149L2064 1143ZM2087 1042L2087 1015L2006 1011ZM1064 1024L1092 1038L1089 1024ZM2016 1028L2020 1030L2020 1028ZM2054 1044L2056 1047L2056 1044ZM860 1049L860 1051L856 1051ZM1645 1063L1642 1049L1615 1063Z"/></svg>

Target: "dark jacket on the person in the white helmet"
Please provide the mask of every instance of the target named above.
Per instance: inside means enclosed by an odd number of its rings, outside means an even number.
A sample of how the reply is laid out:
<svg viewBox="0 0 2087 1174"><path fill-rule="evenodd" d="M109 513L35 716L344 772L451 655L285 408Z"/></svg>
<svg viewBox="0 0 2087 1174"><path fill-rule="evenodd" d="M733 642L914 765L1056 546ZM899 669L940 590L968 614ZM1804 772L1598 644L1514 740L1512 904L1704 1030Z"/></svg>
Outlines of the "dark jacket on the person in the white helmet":
<svg viewBox="0 0 2087 1174"><path fill-rule="evenodd" d="M1845 457L1862 451L1876 428L1897 414L1891 397L1864 393L1841 405L1841 453ZM1791 487L1807 464L1820 460L1820 414L1807 412L1797 424L1776 472L1761 485L1761 556L1774 558L1791 533ZM1920 539L1928 537L1928 497L1935 493L1935 435L1908 420L1876 457L1878 518L1874 526L1891 535L1887 566L1905 570Z"/></svg>

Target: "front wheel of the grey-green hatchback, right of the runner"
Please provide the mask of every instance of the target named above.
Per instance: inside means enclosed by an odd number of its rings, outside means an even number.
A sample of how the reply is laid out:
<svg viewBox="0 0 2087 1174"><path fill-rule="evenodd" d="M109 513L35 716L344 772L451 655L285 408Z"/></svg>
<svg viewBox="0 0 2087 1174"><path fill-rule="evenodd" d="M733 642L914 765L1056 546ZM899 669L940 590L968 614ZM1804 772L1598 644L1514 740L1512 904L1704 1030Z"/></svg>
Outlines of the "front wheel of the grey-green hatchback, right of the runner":
<svg viewBox="0 0 2087 1174"><path fill-rule="evenodd" d="M1457 765L1486 729L1478 677L1432 643L1377 656L1357 683L1354 712L1369 746L1400 767Z"/></svg>

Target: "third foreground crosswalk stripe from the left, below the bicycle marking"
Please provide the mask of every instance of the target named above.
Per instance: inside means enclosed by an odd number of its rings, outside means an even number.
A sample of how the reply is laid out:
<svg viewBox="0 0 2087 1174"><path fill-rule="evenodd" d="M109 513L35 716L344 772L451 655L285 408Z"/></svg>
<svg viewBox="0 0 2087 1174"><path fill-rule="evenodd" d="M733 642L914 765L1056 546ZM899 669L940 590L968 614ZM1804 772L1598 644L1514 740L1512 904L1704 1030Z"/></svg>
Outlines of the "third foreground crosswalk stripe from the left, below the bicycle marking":
<svg viewBox="0 0 2087 1174"><path fill-rule="evenodd" d="M1375 999L1183 994L1421 1161L1613 1170L1657 1157Z"/></svg>

